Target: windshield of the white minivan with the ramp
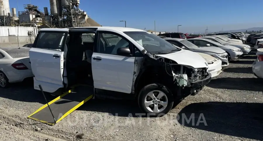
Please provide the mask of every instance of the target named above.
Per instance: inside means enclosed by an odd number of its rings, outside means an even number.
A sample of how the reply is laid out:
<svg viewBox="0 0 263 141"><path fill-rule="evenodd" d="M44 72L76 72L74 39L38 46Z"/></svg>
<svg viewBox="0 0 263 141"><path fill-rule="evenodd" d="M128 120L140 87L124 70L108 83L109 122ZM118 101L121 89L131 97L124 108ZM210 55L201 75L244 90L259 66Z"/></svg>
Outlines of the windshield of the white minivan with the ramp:
<svg viewBox="0 0 263 141"><path fill-rule="evenodd" d="M171 43L149 32L127 31L123 33L138 42L150 53L172 53L172 51L181 50L179 47L175 47Z"/></svg>

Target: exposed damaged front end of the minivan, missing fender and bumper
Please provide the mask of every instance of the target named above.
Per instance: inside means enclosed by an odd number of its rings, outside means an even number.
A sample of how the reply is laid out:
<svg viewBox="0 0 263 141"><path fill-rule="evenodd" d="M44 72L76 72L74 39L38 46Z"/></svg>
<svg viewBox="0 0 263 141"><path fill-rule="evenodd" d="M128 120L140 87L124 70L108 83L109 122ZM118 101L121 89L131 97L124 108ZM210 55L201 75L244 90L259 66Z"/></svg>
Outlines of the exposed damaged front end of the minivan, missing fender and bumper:
<svg viewBox="0 0 263 141"><path fill-rule="evenodd" d="M193 64L196 62L192 62ZM211 81L207 62L200 68L179 64L175 59L151 53L135 59L134 90L140 90L149 83L159 83L169 88L177 99L195 95Z"/></svg>

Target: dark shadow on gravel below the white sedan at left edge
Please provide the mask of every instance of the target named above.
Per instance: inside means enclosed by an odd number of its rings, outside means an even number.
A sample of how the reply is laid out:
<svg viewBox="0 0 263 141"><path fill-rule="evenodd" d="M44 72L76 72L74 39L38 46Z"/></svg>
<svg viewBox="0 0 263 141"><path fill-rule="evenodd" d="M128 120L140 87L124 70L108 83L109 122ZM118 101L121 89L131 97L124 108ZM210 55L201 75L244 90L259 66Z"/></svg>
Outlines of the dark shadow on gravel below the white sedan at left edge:
<svg viewBox="0 0 263 141"><path fill-rule="evenodd" d="M11 84L9 88L1 88L0 97L15 101L46 103L41 91L34 90L33 86L33 80L14 83ZM54 97L49 94L45 95L48 101L54 99Z"/></svg>

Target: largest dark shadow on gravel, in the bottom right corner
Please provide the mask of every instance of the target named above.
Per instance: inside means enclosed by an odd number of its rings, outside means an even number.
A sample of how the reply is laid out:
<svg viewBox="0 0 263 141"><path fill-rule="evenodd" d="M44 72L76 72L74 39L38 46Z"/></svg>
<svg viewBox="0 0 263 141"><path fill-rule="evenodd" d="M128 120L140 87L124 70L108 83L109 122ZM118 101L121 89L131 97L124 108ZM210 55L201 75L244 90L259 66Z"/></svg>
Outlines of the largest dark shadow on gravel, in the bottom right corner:
<svg viewBox="0 0 263 141"><path fill-rule="evenodd" d="M192 103L180 112L179 123L214 133L220 133L230 136L250 138L255 140L263 140L263 103L231 103L231 102L205 102ZM184 114L187 119L190 119L194 113L193 121L189 123L182 120ZM197 126L198 118L203 113L203 118ZM193 116L193 115L192 115ZM189 120L188 120L189 121Z"/></svg>

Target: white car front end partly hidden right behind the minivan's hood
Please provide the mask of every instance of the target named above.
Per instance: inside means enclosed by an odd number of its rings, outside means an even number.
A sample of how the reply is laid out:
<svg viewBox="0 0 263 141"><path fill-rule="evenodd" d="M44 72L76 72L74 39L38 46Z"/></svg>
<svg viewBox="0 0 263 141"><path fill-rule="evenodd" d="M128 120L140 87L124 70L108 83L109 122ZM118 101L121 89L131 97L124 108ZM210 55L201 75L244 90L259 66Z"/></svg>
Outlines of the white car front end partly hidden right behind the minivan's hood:
<svg viewBox="0 0 263 141"><path fill-rule="evenodd" d="M197 52L198 53L198 52ZM216 76L218 76L219 74L221 74L222 72L222 61L219 60L218 58L214 58L213 56L210 56L208 54L205 53L198 53L200 56L202 56L203 58L205 58L205 60L207 61L208 64L208 72L211 73L211 78L214 78Z"/></svg>

